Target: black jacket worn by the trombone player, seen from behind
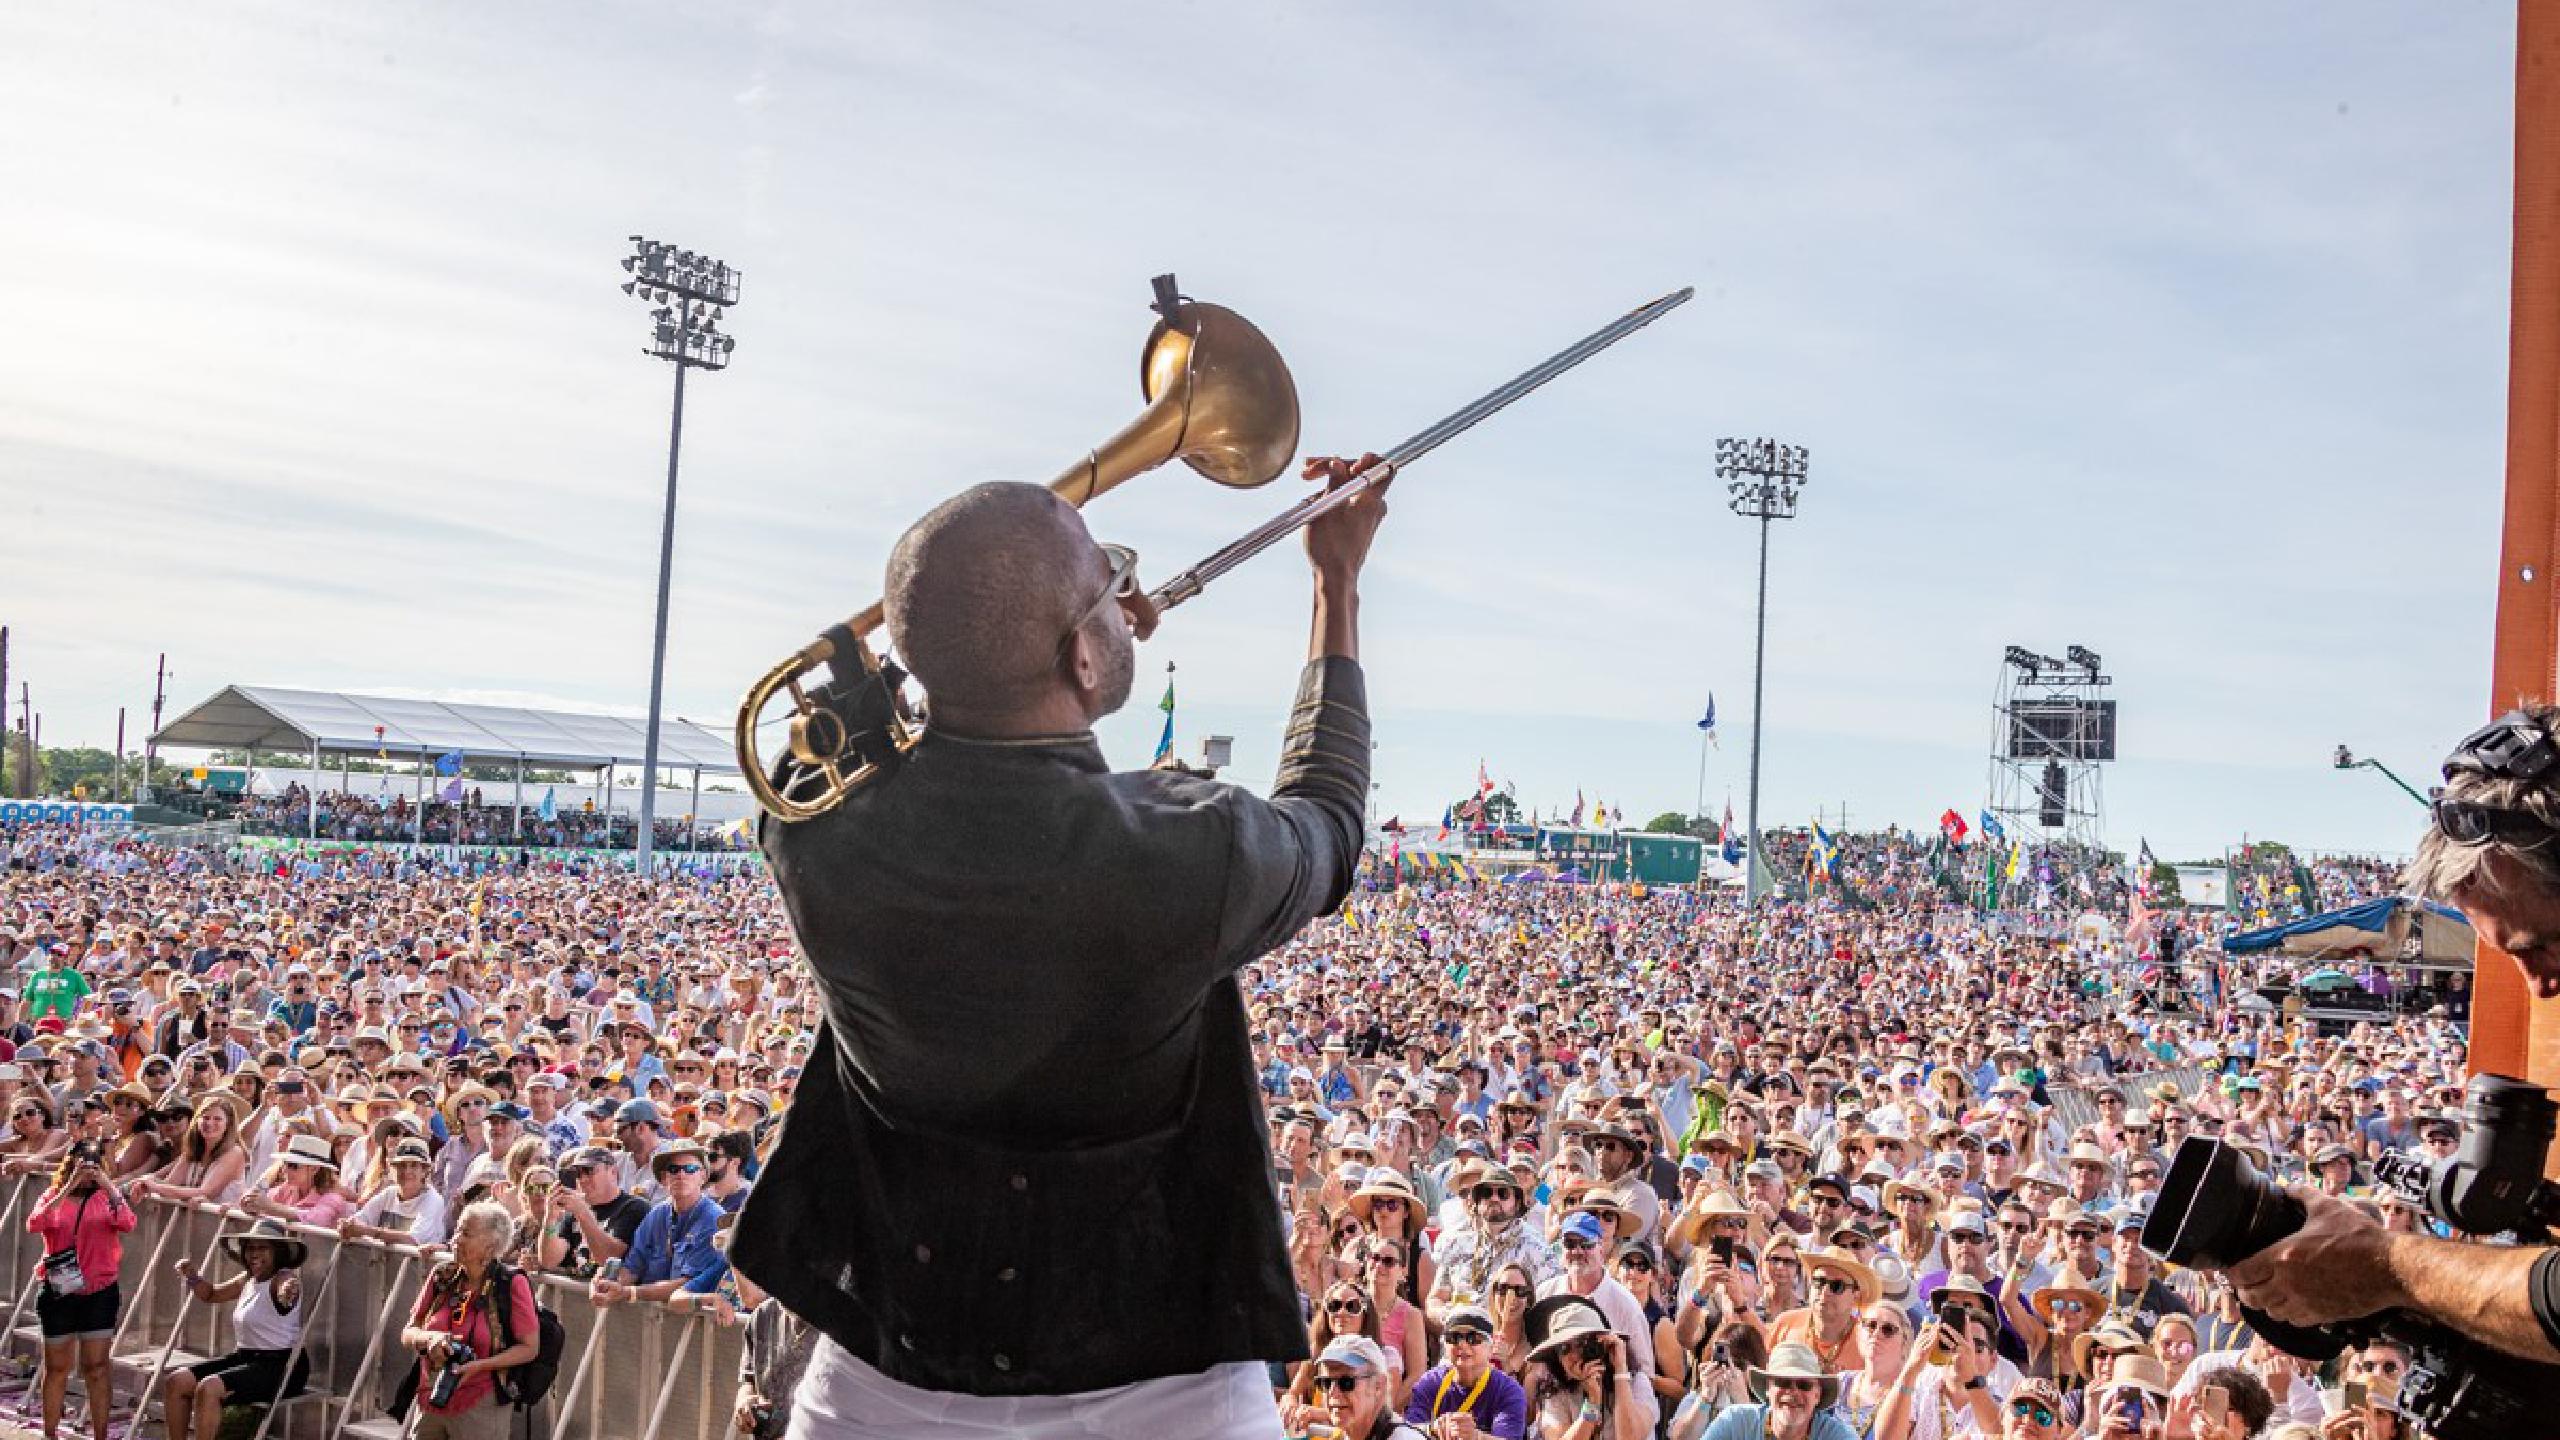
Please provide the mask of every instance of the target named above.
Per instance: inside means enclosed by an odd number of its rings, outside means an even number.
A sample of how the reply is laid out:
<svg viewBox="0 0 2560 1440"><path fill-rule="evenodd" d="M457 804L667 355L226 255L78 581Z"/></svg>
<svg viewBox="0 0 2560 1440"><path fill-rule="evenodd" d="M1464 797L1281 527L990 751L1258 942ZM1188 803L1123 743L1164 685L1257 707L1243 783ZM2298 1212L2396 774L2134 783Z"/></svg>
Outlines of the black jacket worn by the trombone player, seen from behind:
<svg viewBox="0 0 2560 1440"><path fill-rule="evenodd" d="M732 1261L888 1379L1073 1394L1306 1355L1234 971L1359 861L1359 666L1272 799L929 733L765 853L827 1020Z"/></svg>

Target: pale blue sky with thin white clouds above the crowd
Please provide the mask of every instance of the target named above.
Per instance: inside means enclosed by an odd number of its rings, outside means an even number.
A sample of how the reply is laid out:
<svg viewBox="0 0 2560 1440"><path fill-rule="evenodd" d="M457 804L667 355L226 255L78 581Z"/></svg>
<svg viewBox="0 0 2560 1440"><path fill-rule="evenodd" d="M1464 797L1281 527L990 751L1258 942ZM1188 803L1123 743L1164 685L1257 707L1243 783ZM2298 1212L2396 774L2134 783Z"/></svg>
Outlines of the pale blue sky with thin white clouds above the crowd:
<svg viewBox="0 0 2560 1440"><path fill-rule="evenodd" d="M0 620L46 740L228 682L637 710L663 364L645 231L742 266L691 389L671 710L868 602L896 530L1137 407L1147 277L1254 318L1308 451L1697 302L1398 484L1382 812L1981 805L2004 643L2099 651L2109 835L2404 851L2483 712L2506 5L10 5ZM1288 500L1091 510L1162 577ZM1272 766L1303 566L1142 653L1111 753ZM138 725L138 723L136 723Z"/></svg>

